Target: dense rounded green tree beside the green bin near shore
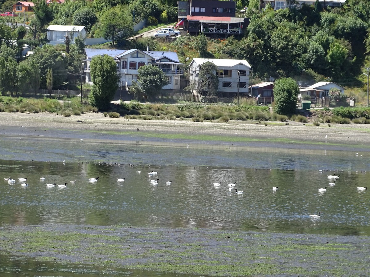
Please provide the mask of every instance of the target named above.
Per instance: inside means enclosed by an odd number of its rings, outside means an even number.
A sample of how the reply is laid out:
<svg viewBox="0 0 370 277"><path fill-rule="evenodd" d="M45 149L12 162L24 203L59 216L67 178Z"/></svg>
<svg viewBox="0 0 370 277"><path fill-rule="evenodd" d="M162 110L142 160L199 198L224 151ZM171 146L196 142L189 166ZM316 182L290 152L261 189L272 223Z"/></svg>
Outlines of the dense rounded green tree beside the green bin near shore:
<svg viewBox="0 0 370 277"><path fill-rule="evenodd" d="M298 84L294 79L277 79L274 85L274 112L277 114L295 113L298 94Z"/></svg>

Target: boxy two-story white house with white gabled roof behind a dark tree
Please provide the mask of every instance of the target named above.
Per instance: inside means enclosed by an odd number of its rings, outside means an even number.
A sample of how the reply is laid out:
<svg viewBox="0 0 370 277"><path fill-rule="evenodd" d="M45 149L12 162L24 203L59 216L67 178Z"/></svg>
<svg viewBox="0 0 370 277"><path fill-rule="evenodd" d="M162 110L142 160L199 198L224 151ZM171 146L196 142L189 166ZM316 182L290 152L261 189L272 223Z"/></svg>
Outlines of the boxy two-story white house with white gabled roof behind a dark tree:
<svg viewBox="0 0 370 277"><path fill-rule="evenodd" d="M202 64L205 62L212 62L212 64L217 66L215 74L219 80L219 92L248 93L250 65L246 60L203 58L194 58L189 64L189 81L192 93L199 93L200 82L198 75Z"/></svg>

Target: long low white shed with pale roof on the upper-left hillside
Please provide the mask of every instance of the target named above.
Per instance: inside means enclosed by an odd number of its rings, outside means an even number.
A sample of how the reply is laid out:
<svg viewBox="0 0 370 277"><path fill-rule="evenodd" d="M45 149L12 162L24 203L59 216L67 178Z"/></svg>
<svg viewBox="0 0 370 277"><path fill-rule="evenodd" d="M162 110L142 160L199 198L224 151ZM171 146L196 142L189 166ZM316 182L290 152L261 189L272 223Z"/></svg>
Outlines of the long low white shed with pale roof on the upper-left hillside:
<svg viewBox="0 0 370 277"><path fill-rule="evenodd" d="M75 37L86 36L85 26L79 25L50 25L46 30L46 38L50 40L50 44L64 43L66 35L71 43L74 43Z"/></svg>

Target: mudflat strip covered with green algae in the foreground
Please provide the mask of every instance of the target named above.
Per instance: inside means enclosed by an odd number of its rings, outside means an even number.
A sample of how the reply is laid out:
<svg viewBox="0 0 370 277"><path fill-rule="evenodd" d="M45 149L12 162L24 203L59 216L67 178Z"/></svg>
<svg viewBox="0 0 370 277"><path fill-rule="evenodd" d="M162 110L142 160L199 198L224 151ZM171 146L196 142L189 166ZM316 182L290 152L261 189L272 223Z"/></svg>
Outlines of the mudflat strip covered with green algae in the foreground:
<svg viewBox="0 0 370 277"><path fill-rule="evenodd" d="M369 276L366 236L130 226L0 227L0 250L24 259L210 276Z"/></svg>

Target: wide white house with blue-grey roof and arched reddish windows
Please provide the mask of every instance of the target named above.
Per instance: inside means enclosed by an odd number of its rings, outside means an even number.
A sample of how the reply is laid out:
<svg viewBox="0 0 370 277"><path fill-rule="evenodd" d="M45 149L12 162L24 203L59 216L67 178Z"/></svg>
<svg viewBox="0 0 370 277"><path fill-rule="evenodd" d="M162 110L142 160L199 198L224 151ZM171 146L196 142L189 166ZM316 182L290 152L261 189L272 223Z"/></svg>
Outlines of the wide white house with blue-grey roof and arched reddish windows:
<svg viewBox="0 0 370 277"><path fill-rule="evenodd" d="M180 89L180 77L183 73L176 52L169 51L141 51L139 49L92 49L85 48L86 82L92 84L90 77L90 62L94 56L109 55L117 64L117 73L120 74L120 89L128 89L133 81L137 81L138 69L144 65L158 66L166 73L168 85L163 89Z"/></svg>

